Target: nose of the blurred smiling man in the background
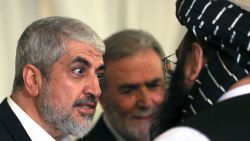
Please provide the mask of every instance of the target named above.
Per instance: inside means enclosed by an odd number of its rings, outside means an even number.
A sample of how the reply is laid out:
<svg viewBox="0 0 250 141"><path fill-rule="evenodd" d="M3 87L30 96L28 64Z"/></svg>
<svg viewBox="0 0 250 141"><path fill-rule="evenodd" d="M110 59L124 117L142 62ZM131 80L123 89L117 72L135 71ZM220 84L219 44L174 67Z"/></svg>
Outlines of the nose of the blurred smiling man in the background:
<svg viewBox="0 0 250 141"><path fill-rule="evenodd" d="M137 93L137 106L141 109L149 109L153 106L151 93L146 87L141 87Z"/></svg>

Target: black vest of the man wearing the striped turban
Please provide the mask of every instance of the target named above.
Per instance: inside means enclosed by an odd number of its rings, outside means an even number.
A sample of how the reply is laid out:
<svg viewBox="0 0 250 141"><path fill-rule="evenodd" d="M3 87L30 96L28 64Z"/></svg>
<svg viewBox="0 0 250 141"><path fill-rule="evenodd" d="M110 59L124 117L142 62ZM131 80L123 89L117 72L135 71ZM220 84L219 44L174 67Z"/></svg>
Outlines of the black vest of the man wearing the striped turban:
<svg viewBox="0 0 250 141"><path fill-rule="evenodd" d="M234 97L184 121L212 141L250 141L250 94Z"/></svg>

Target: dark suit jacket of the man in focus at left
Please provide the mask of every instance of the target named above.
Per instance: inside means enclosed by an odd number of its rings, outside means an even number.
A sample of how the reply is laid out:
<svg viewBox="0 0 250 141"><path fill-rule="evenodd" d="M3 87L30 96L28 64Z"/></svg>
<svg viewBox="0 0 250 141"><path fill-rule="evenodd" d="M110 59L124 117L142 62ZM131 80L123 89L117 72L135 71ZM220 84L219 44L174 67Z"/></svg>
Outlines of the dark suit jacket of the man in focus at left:
<svg viewBox="0 0 250 141"><path fill-rule="evenodd" d="M8 105L6 98L0 104L0 140L31 141L22 124Z"/></svg>

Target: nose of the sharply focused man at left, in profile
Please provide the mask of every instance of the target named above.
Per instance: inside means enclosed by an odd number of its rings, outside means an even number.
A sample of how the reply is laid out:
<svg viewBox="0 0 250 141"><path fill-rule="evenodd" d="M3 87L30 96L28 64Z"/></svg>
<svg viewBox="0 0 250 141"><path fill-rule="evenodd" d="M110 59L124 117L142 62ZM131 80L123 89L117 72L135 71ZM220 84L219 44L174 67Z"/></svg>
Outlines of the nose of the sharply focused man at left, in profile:
<svg viewBox="0 0 250 141"><path fill-rule="evenodd" d="M101 88L97 76L94 74L93 76L89 77L86 83L88 83L86 93L99 98L101 96Z"/></svg>

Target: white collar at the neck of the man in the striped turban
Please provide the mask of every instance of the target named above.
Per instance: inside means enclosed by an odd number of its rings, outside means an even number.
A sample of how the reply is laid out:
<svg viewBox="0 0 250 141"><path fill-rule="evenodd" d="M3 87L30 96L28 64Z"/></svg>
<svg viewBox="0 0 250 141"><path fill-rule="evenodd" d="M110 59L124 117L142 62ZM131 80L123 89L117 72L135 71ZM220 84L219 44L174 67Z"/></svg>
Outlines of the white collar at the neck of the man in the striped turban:
<svg viewBox="0 0 250 141"><path fill-rule="evenodd" d="M221 101L227 100L229 98L236 97L236 96L242 96L245 94L250 94L250 84L242 85L242 86L239 86L239 87L236 87L232 90L227 91L225 94L223 94L217 100L217 102L221 102Z"/></svg>

